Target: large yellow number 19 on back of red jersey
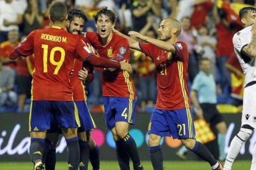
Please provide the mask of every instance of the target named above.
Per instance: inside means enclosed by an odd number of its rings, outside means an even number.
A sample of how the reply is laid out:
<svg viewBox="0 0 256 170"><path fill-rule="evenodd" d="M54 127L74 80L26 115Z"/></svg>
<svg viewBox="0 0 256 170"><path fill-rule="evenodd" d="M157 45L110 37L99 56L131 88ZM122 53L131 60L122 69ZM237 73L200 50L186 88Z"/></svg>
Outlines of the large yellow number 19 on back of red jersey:
<svg viewBox="0 0 256 170"><path fill-rule="evenodd" d="M48 72L48 45L46 44L42 44L41 46L43 48L43 72L47 73ZM61 59L56 62L54 60L54 54L55 52L60 52L61 53ZM49 55L49 62L52 65L55 65L56 68L53 72L54 75L58 75L59 69L61 69L61 66L64 62L65 59L65 51L62 47L53 47L53 49L51 49L50 55Z"/></svg>

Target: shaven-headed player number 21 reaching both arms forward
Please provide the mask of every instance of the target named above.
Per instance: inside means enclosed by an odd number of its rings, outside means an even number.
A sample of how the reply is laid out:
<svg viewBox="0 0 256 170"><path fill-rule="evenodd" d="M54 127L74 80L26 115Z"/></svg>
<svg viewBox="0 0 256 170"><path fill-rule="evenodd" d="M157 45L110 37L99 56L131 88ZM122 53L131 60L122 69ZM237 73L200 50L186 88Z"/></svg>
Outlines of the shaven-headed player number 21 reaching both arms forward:
<svg viewBox="0 0 256 170"><path fill-rule="evenodd" d="M129 31L129 34L149 43L139 43L126 36L130 47L143 51L156 67L158 97L148 126L150 160L154 169L163 169L160 141L163 136L173 136L210 163L212 169L222 169L220 162L213 158L205 145L195 140L187 90L189 54L187 45L177 41L180 33L181 24L174 18L166 18L158 29L160 40L148 38L135 31Z"/></svg>

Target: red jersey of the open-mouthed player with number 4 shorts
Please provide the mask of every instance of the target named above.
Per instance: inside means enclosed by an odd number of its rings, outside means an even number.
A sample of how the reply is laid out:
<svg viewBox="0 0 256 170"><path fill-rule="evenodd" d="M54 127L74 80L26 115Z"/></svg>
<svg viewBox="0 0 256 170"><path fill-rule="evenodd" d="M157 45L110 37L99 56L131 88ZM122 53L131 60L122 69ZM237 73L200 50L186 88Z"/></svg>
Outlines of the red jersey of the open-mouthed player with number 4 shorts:
<svg viewBox="0 0 256 170"><path fill-rule="evenodd" d="M98 51L100 57L116 60L117 62L122 60L130 61L129 42L126 38L113 33L111 41L106 46L102 46L99 34L87 32L85 36ZM103 96L135 99L134 83L127 71L101 69L101 81Z"/></svg>

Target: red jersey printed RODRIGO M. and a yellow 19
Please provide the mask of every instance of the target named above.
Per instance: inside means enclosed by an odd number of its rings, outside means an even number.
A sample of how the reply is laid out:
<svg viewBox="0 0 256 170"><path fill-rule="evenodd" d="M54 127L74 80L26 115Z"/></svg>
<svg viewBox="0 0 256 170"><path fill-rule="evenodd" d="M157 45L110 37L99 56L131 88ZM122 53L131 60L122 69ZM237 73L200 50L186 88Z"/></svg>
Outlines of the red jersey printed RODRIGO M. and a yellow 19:
<svg viewBox="0 0 256 170"><path fill-rule="evenodd" d="M32 31L16 49L19 55L35 55L32 81L32 100L72 101L69 83L74 56L89 59L92 53L80 36L52 27ZM10 57L13 58L13 57Z"/></svg>

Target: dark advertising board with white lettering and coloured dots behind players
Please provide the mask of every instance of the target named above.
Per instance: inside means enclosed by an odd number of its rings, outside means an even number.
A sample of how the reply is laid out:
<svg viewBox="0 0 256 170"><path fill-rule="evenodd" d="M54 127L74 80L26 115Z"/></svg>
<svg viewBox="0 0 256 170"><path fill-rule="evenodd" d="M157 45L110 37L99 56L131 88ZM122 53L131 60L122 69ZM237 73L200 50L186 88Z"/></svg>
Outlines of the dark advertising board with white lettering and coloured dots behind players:
<svg viewBox="0 0 256 170"><path fill-rule="evenodd" d="M228 124L228 133L226 137L226 150L233 139L234 135L239 131L241 126L241 114L224 114L224 120ZM93 114L98 129L92 132L93 139L100 146L101 160L116 160L116 152L114 150L114 141L111 133L106 129L103 114ZM147 129L150 114L138 113L136 115L135 126L130 126L130 134L134 137L139 148L142 160L149 160L147 147ZM245 146L241 150L238 159L245 160L252 158L252 148L256 142L256 133L247 140ZM181 146L179 140L173 140L170 137L162 140L164 160L179 160L175 153ZM30 137L28 133L28 114L17 113L1 113L0 114L0 161L29 161L28 148L30 145ZM211 152L218 152L214 149L216 140L207 144ZM60 137L58 145L58 160L66 160L66 142L64 137ZM216 153L218 154L218 153ZM187 155L189 160L197 160L194 153L189 152Z"/></svg>

